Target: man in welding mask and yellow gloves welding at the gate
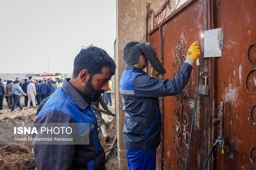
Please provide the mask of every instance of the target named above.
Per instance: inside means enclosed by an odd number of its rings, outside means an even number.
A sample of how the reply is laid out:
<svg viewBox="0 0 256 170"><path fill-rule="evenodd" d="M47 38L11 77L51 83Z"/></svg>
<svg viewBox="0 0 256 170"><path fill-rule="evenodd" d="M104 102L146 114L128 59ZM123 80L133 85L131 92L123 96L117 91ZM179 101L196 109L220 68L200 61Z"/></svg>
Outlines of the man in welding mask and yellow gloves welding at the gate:
<svg viewBox="0 0 256 170"><path fill-rule="evenodd" d="M188 49L186 61L173 80L161 80L165 69L147 42L132 41L124 46L126 63L119 84L124 110L123 138L130 169L156 169L156 148L160 144L161 113L158 97L173 96L186 86L192 65L200 55L198 41ZM151 77L143 71L152 65ZM160 73L159 73L160 72Z"/></svg>

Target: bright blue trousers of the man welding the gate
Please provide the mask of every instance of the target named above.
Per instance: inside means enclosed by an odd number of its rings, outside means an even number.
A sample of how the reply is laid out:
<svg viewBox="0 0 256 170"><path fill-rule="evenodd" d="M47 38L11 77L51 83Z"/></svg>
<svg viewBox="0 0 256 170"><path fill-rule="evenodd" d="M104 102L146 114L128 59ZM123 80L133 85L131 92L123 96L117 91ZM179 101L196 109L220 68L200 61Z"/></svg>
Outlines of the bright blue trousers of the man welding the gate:
<svg viewBox="0 0 256 170"><path fill-rule="evenodd" d="M125 149L129 170L156 170L156 149Z"/></svg>

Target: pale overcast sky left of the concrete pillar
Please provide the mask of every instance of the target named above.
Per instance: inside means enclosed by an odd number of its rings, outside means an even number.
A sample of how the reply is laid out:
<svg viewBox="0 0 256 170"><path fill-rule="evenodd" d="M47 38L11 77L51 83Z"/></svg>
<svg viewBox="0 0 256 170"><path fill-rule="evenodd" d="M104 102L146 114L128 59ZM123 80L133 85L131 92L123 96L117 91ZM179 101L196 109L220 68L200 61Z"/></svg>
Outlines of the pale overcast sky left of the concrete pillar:
<svg viewBox="0 0 256 170"><path fill-rule="evenodd" d="M116 0L0 0L0 73L69 73L82 46L114 56Z"/></svg>

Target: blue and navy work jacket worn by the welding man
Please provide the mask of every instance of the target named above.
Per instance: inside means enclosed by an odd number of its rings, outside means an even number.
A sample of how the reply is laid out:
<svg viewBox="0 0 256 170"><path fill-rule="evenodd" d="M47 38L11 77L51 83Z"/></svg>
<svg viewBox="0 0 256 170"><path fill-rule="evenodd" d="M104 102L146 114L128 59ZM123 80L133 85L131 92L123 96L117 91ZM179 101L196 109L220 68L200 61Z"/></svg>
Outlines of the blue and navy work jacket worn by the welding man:
<svg viewBox="0 0 256 170"><path fill-rule="evenodd" d="M173 80L161 80L126 65L119 84L125 113L123 138L126 148L152 150L158 147L162 125L158 97L182 92L191 71L192 66L184 63Z"/></svg>

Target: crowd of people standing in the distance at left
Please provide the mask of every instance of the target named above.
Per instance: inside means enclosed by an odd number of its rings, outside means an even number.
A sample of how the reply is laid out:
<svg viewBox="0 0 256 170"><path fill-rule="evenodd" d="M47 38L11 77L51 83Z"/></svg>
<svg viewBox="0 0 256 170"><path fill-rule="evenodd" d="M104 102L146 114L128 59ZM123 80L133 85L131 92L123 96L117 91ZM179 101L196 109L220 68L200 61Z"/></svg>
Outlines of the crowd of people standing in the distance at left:
<svg viewBox="0 0 256 170"><path fill-rule="evenodd" d="M36 108L36 105L40 105L41 101L54 93L58 88L62 87L64 78L55 77L55 81L52 78L43 78L43 80L34 80L32 76L28 79L24 79L24 83L20 82L17 77L15 81L9 80L6 86L2 83L0 78L0 113L3 112L3 100L6 98L8 108L11 112L15 112L15 108L20 107L20 110L24 110L24 107L20 104L20 96L24 95L25 107ZM36 104L37 102L37 104Z"/></svg>

